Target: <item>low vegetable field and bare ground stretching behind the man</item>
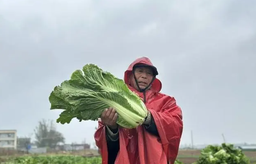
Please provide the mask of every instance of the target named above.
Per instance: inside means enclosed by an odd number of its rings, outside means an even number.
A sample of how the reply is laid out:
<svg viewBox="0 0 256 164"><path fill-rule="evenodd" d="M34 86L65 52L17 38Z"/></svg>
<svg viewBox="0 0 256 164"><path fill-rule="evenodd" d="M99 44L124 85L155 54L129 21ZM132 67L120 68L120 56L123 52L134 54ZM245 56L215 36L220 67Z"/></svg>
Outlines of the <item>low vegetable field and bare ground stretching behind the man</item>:
<svg viewBox="0 0 256 164"><path fill-rule="evenodd" d="M256 152L245 151L244 154L250 158L252 164L256 164ZM185 164L191 164L197 160L199 155L200 151L198 150L180 150L178 160ZM42 155L8 155L1 156L0 163L9 161L8 159L15 156L22 158L8 164L101 164L101 158L96 150L52 152Z"/></svg>

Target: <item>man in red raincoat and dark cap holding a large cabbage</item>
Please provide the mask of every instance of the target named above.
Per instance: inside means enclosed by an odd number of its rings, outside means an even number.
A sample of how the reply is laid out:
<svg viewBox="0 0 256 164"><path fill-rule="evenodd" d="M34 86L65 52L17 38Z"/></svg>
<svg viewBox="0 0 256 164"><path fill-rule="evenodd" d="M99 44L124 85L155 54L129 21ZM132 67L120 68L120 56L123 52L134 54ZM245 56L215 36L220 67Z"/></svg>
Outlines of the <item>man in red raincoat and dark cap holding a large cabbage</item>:
<svg viewBox="0 0 256 164"><path fill-rule="evenodd" d="M115 109L106 109L94 138L102 164L173 164L183 131L182 111L173 97L160 93L157 68L149 58L135 60L125 71L124 81L142 98L148 109L143 125L119 127Z"/></svg>

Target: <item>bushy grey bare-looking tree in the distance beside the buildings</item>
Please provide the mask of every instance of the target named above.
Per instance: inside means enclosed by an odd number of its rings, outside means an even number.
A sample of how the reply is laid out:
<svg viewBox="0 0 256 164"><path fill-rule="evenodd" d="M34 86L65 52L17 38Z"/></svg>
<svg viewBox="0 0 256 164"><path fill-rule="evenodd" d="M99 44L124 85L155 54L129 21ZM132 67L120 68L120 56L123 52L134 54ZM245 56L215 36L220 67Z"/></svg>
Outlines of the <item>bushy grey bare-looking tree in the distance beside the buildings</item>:
<svg viewBox="0 0 256 164"><path fill-rule="evenodd" d="M35 144L40 147L56 148L58 143L65 143L65 138L62 133L56 130L53 121L39 121L35 128Z"/></svg>

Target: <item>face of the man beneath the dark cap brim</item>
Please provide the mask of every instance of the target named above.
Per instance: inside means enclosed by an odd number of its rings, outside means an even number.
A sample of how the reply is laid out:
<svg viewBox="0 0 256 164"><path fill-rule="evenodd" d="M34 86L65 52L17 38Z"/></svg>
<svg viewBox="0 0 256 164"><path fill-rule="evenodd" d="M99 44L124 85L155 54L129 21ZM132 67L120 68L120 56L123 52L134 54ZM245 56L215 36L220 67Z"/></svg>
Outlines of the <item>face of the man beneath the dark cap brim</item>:
<svg viewBox="0 0 256 164"><path fill-rule="evenodd" d="M134 69L134 75L141 89L146 88L153 79L153 72L151 67L146 67L146 66L137 67L136 69ZM130 77L130 84L133 88L136 88L139 91L139 88L136 85L133 75L131 75Z"/></svg>

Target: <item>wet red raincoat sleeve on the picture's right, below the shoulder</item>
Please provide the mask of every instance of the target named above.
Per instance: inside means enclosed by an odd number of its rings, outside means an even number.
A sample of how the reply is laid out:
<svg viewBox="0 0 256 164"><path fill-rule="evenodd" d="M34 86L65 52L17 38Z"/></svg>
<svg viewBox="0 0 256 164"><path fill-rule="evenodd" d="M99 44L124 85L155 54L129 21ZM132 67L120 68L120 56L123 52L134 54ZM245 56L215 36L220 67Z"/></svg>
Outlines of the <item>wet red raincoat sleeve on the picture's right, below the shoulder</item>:
<svg viewBox="0 0 256 164"><path fill-rule="evenodd" d="M182 111L173 97L168 96L163 102L160 111L154 109L149 109L149 111L154 119L167 158L173 160L178 155L183 131ZM174 163L174 161L170 162Z"/></svg>

